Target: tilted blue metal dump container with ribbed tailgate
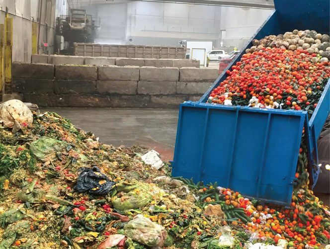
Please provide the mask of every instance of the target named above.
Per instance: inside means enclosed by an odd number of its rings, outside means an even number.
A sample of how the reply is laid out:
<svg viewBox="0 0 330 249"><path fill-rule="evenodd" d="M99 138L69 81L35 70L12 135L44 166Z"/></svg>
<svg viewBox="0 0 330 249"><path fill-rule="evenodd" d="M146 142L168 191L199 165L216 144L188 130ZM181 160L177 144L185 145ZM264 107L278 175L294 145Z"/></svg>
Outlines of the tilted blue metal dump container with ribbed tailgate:
<svg viewBox="0 0 330 249"><path fill-rule="evenodd" d="M275 10L252 39L294 29L329 33L329 0L274 0ZM309 171L319 174L317 140L330 112L330 81L309 120L306 111L261 109L206 103L226 79L226 70L197 102L180 105L172 174L220 186L267 202L291 203L303 127Z"/></svg>

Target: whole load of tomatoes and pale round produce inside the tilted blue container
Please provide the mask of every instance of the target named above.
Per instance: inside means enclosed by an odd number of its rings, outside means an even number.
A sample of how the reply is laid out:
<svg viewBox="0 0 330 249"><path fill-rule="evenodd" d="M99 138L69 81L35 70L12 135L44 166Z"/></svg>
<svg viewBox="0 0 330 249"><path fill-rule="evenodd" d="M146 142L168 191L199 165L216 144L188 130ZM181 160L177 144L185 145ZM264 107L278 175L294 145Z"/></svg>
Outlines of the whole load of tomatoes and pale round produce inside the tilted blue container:
<svg viewBox="0 0 330 249"><path fill-rule="evenodd" d="M253 40L255 46L226 72L208 102L306 110L311 117L330 78L329 39L313 30L294 30Z"/></svg>

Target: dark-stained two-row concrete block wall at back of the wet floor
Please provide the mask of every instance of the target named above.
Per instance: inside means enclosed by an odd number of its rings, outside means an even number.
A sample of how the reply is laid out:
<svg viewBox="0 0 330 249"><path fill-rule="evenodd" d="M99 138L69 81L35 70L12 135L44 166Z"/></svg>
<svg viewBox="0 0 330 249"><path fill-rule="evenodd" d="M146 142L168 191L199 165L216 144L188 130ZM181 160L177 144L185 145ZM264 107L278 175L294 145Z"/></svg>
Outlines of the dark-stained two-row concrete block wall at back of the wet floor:
<svg viewBox="0 0 330 249"><path fill-rule="evenodd" d="M12 64L13 92L41 107L177 108L198 100L217 69Z"/></svg>

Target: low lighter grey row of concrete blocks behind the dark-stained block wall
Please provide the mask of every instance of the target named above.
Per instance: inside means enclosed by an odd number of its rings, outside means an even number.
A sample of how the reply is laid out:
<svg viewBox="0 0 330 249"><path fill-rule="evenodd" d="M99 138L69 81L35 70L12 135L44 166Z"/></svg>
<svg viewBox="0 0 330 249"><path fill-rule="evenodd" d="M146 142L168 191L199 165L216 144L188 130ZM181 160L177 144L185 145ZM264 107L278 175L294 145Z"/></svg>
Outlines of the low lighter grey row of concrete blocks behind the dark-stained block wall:
<svg viewBox="0 0 330 249"><path fill-rule="evenodd" d="M48 63L54 65L73 64L73 65L93 65L110 66L116 65L137 66L137 67L194 67L199 68L199 61L187 59L140 59L140 58L111 58L111 57L83 57L69 55L32 55L31 63Z"/></svg>

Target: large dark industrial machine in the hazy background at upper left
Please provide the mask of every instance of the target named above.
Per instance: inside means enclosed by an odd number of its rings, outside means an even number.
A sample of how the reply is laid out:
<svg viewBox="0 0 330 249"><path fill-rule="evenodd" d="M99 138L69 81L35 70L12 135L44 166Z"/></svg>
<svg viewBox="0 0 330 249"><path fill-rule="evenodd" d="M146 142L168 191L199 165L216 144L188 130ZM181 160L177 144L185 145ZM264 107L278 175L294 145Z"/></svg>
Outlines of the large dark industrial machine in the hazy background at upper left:
<svg viewBox="0 0 330 249"><path fill-rule="evenodd" d="M61 54L73 55L74 43L93 43L100 18L92 18L84 9L71 9L70 15L56 18L55 34L64 37Z"/></svg>

